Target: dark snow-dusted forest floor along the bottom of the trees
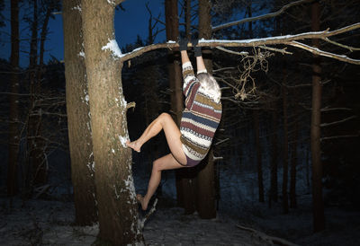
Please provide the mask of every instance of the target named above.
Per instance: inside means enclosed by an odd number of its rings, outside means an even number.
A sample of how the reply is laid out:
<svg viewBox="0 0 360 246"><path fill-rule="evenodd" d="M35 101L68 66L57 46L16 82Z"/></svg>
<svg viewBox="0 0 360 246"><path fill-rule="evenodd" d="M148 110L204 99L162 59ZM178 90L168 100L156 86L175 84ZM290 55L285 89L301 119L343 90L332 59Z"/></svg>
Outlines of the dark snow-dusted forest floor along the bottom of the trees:
<svg viewBox="0 0 360 246"><path fill-rule="evenodd" d="M144 237L147 245L269 245L240 225L299 245L360 245L359 211L326 208L327 229L314 234L310 196L301 200L299 208L287 215L277 204L268 208L254 202L234 210L220 207L217 218L202 220L196 214L184 215L174 199L165 196L145 224ZM0 245L91 245L98 225L77 227L72 224L74 218L72 201L23 202L4 198L1 192Z"/></svg>

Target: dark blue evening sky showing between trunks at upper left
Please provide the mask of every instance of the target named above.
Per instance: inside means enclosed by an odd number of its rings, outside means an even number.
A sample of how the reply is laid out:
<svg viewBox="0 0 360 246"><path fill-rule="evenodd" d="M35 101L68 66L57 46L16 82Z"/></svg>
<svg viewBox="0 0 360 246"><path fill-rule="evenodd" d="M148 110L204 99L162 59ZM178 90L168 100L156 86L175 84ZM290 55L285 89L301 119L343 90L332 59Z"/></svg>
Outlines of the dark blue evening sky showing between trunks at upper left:
<svg viewBox="0 0 360 246"><path fill-rule="evenodd" d="M164 17L164 0L127 0L122 3L122 6L125 8L125 12L117 11L115 13L115 36L118 41L119 47L124 47L126 44L133 43L137 40L137 35L139 34L142 39L146 39L148 36L148 18L149 13L146 9L145 4L149 3L148 6L153 14L153 16L161 13L160 19L165 22ZM10 5L9 2L5 1L4 16L10 20ZM20 18L23 17L23 12L20 13ZM0 36L1 51L0 57L6 60L10 57L10 22L5 23L6 26L1 29L2 33ZM23 39L21 43L21 66L27 66L28 64L28 55L25 52L29 50L29 29L27 29L27 24L21 22L21 38ZM161 24L158 24L159 29L164 27ZM165 32L161 33L156 42L165 40ZM62 16L61 14L56 14L55 19L51 19L49 22L49 37L46 42L46 53L45 53L45 62L49 60L51 56L62 60L64 58L64 37L63 37L63 28L62 28Z"/></svg>

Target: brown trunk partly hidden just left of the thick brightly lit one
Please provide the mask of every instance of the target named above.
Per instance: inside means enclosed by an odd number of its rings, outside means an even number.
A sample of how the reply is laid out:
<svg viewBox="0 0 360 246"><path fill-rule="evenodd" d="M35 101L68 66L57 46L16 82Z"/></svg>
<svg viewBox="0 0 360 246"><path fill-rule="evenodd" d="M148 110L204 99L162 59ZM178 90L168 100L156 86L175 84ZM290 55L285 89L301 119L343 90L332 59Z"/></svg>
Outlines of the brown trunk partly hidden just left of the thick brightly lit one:
<svg viewBox="0 0 360 246"><path fill-rule="evenodd" d="M92 225L97 222L94 155L79 8L80 0L63 2L67 127L76 224Z"/></svg>

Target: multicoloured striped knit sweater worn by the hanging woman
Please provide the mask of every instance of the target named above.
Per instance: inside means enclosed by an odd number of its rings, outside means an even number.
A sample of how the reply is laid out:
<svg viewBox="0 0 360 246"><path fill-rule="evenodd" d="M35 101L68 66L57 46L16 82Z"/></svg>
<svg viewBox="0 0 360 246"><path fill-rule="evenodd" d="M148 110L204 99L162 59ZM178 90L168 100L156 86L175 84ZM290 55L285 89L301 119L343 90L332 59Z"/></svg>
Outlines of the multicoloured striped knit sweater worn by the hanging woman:
<svg viewBox="0 0 360 246"><path fill-rule="evenodd" d="M202 89L190 62L183 64L183 77L185 108L180 123L181 142L187 165L194 166L205 158L210 149L221 119L221 101L212 100Z"/></svg>

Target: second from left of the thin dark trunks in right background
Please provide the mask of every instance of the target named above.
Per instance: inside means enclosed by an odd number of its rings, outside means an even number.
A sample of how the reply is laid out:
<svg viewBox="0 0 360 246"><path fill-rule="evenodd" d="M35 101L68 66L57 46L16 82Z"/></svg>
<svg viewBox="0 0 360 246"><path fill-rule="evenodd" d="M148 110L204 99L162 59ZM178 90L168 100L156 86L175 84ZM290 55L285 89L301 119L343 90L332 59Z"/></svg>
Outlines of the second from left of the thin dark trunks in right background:
<svg viewBox="0 0 360 246"><path fill-rule="evenodd" d="M277 131L278 131L278 110L276 101L273 103L274 109L272 110L272 131L271 135L271 163L270 163L270 196L269 206L271 202L277 202L277 162L278 162L278 151L277 151Z"/></svg>

